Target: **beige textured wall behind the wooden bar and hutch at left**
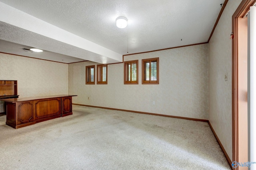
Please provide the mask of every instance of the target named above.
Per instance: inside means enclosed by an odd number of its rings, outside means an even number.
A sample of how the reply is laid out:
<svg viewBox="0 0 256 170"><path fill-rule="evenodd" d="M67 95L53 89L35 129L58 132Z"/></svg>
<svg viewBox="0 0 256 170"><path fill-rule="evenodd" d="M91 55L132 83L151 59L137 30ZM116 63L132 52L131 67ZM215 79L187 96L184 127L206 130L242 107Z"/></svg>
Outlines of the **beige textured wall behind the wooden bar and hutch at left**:
<svg viewBox="0 0 256 170"><path fill-rule="evenodd" d="M20 98L68 94L68 64L0 53L0 80L18 80Z"/></svg>

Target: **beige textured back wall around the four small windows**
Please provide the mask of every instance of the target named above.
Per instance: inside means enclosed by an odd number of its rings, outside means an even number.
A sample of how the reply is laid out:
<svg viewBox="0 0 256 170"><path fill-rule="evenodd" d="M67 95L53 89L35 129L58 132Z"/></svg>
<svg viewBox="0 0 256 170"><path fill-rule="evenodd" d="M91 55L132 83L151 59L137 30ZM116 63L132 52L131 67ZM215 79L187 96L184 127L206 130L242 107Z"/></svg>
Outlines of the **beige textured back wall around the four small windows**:
<svg viewBox="0 0 256 170"><path fill-rule="evenodd" d="M160 83L141 84L141 60L159 57ZM73 103L208 119L208 44L129 55L139 60L139 84L124 85L124 64L108 65L107 85L86 85L85 66L69 64ZM153 101L155 105L153 105Z"/></svg>

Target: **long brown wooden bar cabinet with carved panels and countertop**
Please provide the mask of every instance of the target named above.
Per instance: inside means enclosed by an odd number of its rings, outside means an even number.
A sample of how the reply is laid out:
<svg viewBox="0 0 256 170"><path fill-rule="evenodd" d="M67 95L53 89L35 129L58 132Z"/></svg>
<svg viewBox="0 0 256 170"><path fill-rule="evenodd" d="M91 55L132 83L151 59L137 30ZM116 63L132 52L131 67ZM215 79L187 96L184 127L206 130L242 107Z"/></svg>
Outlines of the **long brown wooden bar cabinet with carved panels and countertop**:
<svg viewBox="0 0 256 170"><path fill-rule="evenodd" d="M6 102L6 125L15 129L72 115L72 96L56 95L0 99Z"/></svg>

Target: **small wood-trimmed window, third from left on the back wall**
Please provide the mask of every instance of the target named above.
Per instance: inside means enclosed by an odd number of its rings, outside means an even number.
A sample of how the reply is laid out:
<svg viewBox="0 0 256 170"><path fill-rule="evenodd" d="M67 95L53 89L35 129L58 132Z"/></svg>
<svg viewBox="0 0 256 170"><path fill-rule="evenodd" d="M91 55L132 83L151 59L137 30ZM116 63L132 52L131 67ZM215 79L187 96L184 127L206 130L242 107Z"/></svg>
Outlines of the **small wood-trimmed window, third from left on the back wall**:
<svg viewBox="0 0 256 170"><path fill-rule="evenodd" d="M124 84L138 84L138 60L124 62Z"/></svg>

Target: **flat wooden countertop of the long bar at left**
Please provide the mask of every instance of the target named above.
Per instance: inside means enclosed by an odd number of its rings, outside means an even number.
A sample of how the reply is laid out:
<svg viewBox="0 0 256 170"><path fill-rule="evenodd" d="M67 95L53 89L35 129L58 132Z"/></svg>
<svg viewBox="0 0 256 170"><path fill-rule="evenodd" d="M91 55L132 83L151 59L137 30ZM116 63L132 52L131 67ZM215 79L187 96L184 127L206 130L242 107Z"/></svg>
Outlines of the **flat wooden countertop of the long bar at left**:
<svg viewBox="0 0 256 170"><path fill-rule="evenodd" d="M11 98L11 99L0 99L4 102L10 103L17 103L17 102L25 102L30 100L39 100L39 99L49 99L49 98L62 98L62 97L69 97L69 96L77 96L77 95L53 95L53 96L37 96L37 97L28 97L28 98Z"/></svg>

